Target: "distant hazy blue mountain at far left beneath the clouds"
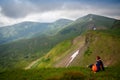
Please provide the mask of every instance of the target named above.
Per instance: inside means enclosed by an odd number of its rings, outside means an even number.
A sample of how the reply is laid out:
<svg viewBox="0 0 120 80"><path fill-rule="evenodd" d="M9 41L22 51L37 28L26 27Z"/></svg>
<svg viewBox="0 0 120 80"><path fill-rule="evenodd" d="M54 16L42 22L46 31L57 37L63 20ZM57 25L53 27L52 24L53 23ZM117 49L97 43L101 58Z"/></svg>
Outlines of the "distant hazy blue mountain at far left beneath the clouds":
<svg viewBox="0 0 120 80"><path fill-rule="evenodd" d="M2 44L21 38L29 38L37 32L48 30L48 25L47 23L23 22L2 27L0 28L0 43Z"/></svg>

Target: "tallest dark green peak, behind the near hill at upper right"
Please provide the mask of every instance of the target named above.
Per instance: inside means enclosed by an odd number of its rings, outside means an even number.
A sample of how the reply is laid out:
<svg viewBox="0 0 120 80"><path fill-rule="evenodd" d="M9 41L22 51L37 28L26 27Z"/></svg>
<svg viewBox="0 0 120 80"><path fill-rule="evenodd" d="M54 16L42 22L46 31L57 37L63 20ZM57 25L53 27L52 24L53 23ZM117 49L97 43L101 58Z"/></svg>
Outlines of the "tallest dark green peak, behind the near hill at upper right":
<svg viewBox="0 0 120 80"><path fill-rule="evenodd" d="M84 17L81 17L71 23L70 25L67 25L66 28L60 31L60 34L64 34L66 36L77 36L81 33L92 30L94 27L99 29L110 29L114 23L115 19L94 15L94 14L88 14Z"/></svg>

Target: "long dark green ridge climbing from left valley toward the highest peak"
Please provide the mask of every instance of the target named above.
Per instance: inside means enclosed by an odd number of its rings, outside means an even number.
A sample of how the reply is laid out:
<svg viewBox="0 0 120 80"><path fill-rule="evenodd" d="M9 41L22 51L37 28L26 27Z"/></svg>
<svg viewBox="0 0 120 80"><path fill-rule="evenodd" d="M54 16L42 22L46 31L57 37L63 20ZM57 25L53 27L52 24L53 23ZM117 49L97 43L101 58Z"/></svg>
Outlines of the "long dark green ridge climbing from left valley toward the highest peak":
<svg viewBox="0 0 120 80"><path fill-rule="evenodd" d="M114 22L114 19L107 20L106 18L102 19L101 17L101 19L98 19L98 17L96 17L94 26L91 25L93 24L93 21L88 22L89 19L86 19L87 21L80 20L72 23L70 22L65 24L65 26L62 26L62 28L61 26L58 26L56 28L58 30L55 31L51 29L52 35L47 32L46 35L41 36L38 32L35 35L36 37L21 39L15 42L0 45L0 68L24 68L32 61L46 55L55 45L61 43L62 41L74 39L75 37L86 33L88 30L93 30L91 29L92 27L96 27L96 30L109 30L111 29L111 26L113 26L112 23ZM108 25L108 23L110 24ZM114 34L114 32L115 31L113 31L112 34Z"/></svg>

